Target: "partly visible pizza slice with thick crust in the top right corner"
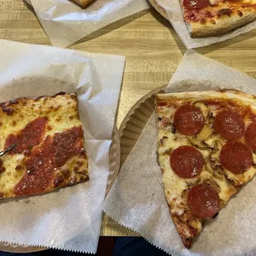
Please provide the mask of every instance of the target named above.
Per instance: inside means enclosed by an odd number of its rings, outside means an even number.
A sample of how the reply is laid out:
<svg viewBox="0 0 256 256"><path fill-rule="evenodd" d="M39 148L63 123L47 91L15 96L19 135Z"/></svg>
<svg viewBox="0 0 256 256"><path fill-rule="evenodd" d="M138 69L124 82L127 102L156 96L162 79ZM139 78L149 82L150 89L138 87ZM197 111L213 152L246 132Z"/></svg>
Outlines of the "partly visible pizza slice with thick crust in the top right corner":
<svg viewBox="0 0 256 256"><path fill-rule="evenodd" d="M179 0L192 37L216 36L256 19L256 0Z"/></svg>

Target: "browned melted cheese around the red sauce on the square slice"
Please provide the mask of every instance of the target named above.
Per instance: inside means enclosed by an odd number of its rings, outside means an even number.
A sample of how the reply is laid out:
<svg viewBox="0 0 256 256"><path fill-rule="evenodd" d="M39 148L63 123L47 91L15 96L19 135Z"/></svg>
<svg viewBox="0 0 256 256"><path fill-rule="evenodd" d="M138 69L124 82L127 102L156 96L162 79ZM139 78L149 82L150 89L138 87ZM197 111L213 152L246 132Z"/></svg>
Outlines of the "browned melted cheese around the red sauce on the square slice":
<svg viewBox="0 0 256 256"><path fill-rule="evenodd" d="M1 150L4 149L8 135L17 135L20 130L23 130L29 122L35 120L37 117L46 116L48 118L45 135L42 141L45 140L48 135L64 132L64 130L70 129L73 126L81 126L81 122L78 119L77 100L69 94L58 95L56 97L41 97L37 100L23 98L7 107L11 108L14 112L9 116L5 111L2 111L0 107ZM16 169L17 166L20 166L24 155L5 154L1 159L3 167L6 168L6 170L0 173L0 194L1 197L2 194L4 197L12 197L15 185L20 182L21 178L26 173L24 166L21 169ZM87 159L79 159L79 157L73 158L73 162L78 160L81 163L78 169L83 170L84 174L88 174ZM71 162L65 164L63 168L69 168L70 171L73 171L75 164L70 163ZM61 172L61 168L59 172ZM70 178L72 179L73 176L70 176Z"/></svg>

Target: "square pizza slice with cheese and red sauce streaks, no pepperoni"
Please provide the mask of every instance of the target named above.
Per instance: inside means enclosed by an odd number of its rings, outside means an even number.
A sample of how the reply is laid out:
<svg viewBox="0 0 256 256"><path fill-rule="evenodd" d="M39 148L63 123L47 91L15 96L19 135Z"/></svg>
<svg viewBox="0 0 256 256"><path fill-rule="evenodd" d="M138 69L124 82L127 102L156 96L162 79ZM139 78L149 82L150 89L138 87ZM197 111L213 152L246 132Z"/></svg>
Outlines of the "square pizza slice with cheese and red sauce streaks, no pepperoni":
<svg viewBox="0 0 256 256"><path fill-rule="evenodd" d="M0 197L31 196L88 180L75 94L0 104Z"/></svg>

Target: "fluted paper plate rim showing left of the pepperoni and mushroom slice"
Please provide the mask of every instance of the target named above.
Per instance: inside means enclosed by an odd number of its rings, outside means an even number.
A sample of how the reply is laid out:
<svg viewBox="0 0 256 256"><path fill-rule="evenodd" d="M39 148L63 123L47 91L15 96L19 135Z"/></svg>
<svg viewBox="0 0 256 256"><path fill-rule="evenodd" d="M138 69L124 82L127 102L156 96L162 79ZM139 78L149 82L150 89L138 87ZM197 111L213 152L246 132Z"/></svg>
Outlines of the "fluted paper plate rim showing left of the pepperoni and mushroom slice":
<svg viewBox="0 0 256 256"><path fill-rule="evenodd" d="M149 121L149 117L154 111L154 99L152 96L155 93L164 92L165 88L167 88L167 85L161 86L142 97L133 107L131 107L130 111L122 121L119 129L121 166L125 163L127 156L135 146L142 130Z"/></svg>

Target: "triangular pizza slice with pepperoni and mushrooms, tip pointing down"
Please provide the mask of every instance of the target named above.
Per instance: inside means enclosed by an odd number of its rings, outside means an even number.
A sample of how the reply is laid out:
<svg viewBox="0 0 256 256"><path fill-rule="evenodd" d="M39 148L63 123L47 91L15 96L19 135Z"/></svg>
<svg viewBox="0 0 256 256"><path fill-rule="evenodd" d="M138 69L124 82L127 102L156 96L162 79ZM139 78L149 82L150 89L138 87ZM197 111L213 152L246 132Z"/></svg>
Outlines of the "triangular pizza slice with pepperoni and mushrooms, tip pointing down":
<svg viewBox="0 0 256 256"><path fill-rule="evenodd" d="M223 90L155 96L170 215L190 248L207 220L256 173L256 98Z"/></svg>

